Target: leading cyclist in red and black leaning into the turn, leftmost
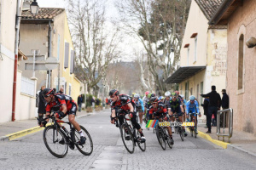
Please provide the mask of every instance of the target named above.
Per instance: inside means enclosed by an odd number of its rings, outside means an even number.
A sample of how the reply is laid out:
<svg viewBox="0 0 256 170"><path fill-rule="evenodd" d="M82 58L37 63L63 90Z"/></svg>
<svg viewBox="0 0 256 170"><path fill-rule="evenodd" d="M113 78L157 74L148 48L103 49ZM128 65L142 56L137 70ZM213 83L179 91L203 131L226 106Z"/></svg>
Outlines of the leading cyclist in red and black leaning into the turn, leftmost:
<svg viewBox="0 0 256 170"><path fill-rule="evenodd" d="M76 112L78 110L78 105L75 101L66 94L55 94L55 91L51 88L44 88L43 95L47 103L45 116L49 116L51 111L56 112L54 115L56 120L61 120L68 115L68 121L71 122L73 127L79 131L80 144L85 144L86 138L82 133L79 123L75 121ZM38 123L41 127L45 127L47 122L49 122L49 119ZM61 139L59 143L64 144L64 139Z"/></svg>

